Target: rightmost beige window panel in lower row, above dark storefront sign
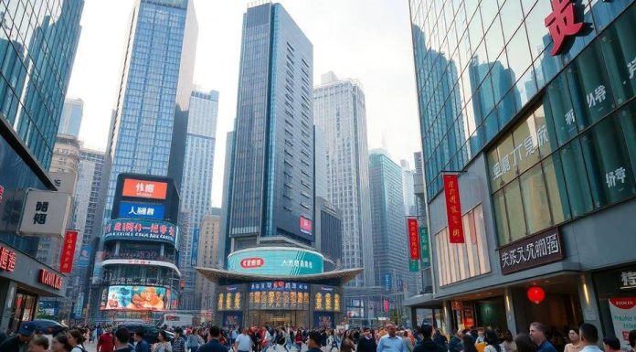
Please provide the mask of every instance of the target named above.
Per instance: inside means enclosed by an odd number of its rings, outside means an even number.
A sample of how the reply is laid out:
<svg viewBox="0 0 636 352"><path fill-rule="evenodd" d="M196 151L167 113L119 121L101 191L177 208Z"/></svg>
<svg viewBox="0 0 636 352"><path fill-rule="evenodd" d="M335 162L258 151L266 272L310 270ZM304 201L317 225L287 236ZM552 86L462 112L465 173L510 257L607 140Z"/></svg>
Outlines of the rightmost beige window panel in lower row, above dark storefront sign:
<svg viewBox="0 0 636 352"><path fill-rule="evenodd" d="M520 178L528 233L547 229L552 225L541 165L535 165Z"/></svg>

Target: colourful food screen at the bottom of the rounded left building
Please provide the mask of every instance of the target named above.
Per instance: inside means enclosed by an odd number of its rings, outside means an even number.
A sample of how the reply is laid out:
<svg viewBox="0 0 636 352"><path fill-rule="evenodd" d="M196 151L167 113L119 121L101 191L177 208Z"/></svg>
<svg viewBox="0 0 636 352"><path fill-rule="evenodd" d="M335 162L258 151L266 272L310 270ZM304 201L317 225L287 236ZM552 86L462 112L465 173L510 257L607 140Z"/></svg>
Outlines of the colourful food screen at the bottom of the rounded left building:
<svg viewBox="0 0 636 352"><path fill-rule="evenodd" d="M106 293L106 289L104 289ZM101 295L100 310L164 311L170 309L170 290L155 286L110 286Z"/></svg>

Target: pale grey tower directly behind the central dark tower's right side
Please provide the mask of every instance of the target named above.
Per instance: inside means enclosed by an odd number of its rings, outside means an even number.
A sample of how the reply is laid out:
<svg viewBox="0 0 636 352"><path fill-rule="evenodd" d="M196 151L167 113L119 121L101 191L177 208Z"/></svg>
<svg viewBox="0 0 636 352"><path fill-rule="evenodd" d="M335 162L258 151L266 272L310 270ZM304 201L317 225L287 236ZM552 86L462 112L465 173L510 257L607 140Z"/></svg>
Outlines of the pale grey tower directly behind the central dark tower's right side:
<svg viewBox="0 0 636 352"><path fill-rule="evenodd" d="M334 72L321 83L313 114L325 136L327 199L343 212L343 266L365 268L350 284L373 285L365 93L357 80L338 80Z"/></svg>

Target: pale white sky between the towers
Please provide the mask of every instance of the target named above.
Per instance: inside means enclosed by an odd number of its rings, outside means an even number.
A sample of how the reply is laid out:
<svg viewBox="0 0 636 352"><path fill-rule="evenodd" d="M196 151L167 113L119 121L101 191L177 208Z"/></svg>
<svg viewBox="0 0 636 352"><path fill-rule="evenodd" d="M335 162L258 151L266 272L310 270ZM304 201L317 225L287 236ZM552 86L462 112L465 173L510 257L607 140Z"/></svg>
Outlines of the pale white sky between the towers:
<svg viewBox="0 0 636 352"><path fill-rule="evenodd" d="M262 2L262 0L260 1ZM369 149L399 164L419 144L408 0L281 0L313 43L313 82L328 71L360 80ZM219 91L212 204L221 207L226 134L236 116L242 16L253 2L194 0L198 37L194 83ZM84 101L80 140L104 150L121 77L126 22L134 1L86 0L68 97Z"/></svg>

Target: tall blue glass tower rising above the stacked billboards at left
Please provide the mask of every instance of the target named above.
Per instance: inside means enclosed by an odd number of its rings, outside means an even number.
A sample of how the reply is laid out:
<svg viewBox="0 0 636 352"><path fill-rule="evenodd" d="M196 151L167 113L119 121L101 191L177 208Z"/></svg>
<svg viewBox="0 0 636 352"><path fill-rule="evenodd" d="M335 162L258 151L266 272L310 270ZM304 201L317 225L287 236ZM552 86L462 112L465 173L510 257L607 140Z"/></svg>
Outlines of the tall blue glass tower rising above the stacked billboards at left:
<svg viewBox="0 0 636 352"><path fill-rule="evenodd" d="M180 186L197 30L191 1L134 6L106 150L106 217L121 173L170 176Z"/></svg>

